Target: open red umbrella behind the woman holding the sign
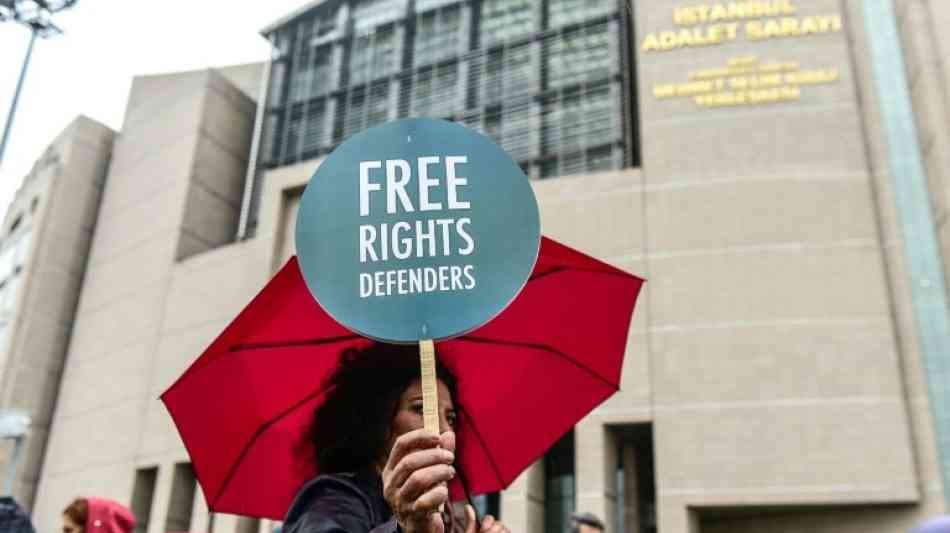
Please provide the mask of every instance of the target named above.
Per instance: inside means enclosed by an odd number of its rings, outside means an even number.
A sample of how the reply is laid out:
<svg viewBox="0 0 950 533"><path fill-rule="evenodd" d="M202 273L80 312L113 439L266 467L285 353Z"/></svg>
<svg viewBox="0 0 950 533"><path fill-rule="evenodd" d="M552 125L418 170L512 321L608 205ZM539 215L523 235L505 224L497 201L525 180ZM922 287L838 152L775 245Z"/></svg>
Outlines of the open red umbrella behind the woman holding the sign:
<svg viewBox="0 0 950 533"><path fill-rule="evenodd" d="M619 389L642 284L544 238L504 312L437 343L458 378L458 461L472 493L506 487ZM162 394L213 511L283 518L317 473L304 435L324 378L343 348L365 342L320 308L291 258Z"/></svg>

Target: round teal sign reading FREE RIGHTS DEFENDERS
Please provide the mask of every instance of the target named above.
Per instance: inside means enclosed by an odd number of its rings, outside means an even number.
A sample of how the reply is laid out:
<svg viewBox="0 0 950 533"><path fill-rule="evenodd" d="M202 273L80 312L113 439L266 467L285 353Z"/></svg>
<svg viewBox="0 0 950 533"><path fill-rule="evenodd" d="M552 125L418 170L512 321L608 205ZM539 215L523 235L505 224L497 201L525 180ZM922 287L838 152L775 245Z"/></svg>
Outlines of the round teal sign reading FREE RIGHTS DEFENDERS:
<svg viewBox="0 0 950 533"><path fill-rule="evenodd" d="M297 215L307 286L367 337L461 335L518 294L541 241L521 168L468 128L404 119L342 143L310 180Z"/></svg>

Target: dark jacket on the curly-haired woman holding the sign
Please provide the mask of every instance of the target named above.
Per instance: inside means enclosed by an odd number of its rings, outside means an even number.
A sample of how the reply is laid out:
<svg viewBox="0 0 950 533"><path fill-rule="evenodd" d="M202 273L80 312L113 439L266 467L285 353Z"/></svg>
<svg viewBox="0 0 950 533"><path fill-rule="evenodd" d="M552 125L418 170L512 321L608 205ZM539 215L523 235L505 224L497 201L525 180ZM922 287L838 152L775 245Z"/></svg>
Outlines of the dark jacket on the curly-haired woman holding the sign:
<svg viewBox="0 0 950 533"><path fill-rule="evenodd" d="M318 476L300 489L283 533L396 533L400 531L375 472Z"/></svg>

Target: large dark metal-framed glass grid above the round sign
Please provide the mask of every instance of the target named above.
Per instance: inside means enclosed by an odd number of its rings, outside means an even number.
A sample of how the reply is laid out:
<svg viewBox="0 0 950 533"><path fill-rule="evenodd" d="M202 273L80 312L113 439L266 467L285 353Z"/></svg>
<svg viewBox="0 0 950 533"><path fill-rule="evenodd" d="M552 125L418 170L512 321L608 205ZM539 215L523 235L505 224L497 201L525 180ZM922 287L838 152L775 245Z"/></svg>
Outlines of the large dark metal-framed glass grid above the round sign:
<svg viewBox="0 0 950 533"><path fill-rule="evenodd" d="M262 164L398 117L482 131L532 177L635 162L632 58L617 0L350 0L274 34ZM629 154L629 155L628 155Z"/></svg>

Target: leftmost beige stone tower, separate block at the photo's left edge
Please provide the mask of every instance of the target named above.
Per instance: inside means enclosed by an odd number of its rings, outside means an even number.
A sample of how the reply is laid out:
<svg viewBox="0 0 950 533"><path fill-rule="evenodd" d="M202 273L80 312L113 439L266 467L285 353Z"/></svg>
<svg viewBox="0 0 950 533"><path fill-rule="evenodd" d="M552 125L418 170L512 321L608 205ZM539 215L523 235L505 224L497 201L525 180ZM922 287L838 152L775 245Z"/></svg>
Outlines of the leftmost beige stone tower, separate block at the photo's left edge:
<svg viewBox="0 0 950 533"><path fill-rule="evenodd" d="M0 347L0 407L24 410L32 419L14 484L14 495L27 507L40 475L114 136L89 118L73 120L24 179L3 224L3 249L19 246L25 254ZM21 222L11 234L14 219ZM24 232L29 244L12 244ZM3 444L0 471L6 473L13 450Z"/></svg>

